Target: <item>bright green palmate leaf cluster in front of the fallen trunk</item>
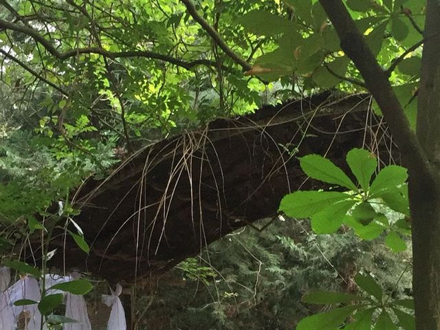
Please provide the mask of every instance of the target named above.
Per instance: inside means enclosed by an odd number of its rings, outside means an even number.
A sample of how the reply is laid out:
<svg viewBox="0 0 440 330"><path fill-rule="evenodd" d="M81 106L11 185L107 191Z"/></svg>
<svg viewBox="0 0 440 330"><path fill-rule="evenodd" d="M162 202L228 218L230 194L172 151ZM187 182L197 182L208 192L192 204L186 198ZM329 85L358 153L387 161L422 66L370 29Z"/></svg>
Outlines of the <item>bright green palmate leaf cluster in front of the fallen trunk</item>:
<svg viewBox="0 0 440 330"><path fill-rule="evenodd" d="M375 239L386 232L386 243L391 249L405 250L399 235L410 232L405 218L409 217L406 168L386 166L371 182L377 168L375 155L355 148L347 153L347 163L358 184L329 159L320 155L300 157L301 168L309 177L348 191L293 192L283 198L280 210L289 217L311 217L311 227L318 234L335 232L342 224L353 228L362 239ZM389 210L402 216L389 219Z"/></svg>

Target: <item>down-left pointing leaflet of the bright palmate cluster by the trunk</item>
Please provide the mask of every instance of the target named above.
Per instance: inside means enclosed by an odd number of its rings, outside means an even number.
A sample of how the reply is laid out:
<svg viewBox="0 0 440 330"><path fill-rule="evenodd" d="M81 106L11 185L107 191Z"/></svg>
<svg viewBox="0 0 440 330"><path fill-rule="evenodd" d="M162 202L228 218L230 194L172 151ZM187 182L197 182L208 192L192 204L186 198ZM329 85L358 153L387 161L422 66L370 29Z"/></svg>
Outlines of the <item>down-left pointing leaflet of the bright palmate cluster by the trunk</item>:
<svg viewBox="0 0 440 330"><path fill-rule="evenodd" d="M311 228L316 234L336 232L344 222L347 212L356 203L354 200L333 203L324 210L311 216Z"/></svg>

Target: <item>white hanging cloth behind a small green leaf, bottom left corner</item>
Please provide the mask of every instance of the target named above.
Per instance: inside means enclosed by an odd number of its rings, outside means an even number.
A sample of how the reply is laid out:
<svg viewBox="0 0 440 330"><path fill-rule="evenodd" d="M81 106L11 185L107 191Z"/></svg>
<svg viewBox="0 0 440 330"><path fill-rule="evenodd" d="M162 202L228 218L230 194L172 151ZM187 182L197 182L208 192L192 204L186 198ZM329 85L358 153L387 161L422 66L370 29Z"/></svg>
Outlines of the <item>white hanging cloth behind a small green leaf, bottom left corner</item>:
<svg viewBox="0 0 440 330"><path fill-rule="evenodd" d="M5 292L8 305L12 306L15 321L20 326L27 325L26 330L41 329L41 314L37 304L15 306L14 302L21 299L29 299L39 302L41 300L40 287L38 281L32 276L24 276L20 281L14 283ZM46 327L43 327L46 329Z"/></svg>

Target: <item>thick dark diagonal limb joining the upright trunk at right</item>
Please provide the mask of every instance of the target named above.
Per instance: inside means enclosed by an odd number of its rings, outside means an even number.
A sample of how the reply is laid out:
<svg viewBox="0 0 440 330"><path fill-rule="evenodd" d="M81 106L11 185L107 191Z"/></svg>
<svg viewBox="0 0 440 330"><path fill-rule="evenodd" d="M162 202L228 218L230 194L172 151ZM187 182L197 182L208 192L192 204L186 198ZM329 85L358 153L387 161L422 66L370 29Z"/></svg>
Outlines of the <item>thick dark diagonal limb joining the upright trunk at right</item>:
<svg viewBox="0 0 440 330"><path fill-rule="evenodd" d="M342 50L355 63L364 77L366 87L384 113L402 155L411 159L411 162L408 162L408 168L432 173L423 148L415 133L410 129L408 119L391 88L386 72L377 63L344 3L341 0L320 0L319 2L338 32Z"/></svg>

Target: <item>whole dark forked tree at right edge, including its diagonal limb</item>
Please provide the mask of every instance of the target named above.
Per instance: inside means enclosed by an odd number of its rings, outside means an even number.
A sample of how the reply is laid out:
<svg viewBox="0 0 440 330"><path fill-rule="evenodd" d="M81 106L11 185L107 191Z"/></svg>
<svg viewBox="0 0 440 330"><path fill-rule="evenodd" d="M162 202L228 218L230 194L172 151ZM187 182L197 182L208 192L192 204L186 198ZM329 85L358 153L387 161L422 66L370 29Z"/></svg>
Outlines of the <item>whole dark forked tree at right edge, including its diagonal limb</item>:
<svg viewBox="0 0 440 330"><path fill-rule="evenodd" d="M412 289L417 330L440 330L440 3L428 0L417 135L364 36L342 0L320 0L341 39L342 50L364 77L379 104L409 172L412 217Z"/></svg>

